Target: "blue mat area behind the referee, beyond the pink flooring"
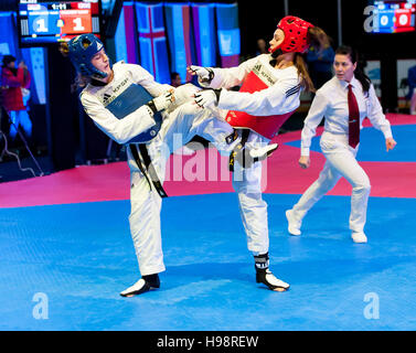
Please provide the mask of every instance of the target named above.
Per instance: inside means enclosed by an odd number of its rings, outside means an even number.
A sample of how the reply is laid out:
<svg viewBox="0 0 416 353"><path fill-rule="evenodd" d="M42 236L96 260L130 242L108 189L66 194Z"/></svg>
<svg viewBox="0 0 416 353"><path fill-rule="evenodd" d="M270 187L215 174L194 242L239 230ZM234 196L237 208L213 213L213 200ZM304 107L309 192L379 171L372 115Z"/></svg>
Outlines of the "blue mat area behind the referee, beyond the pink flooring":
<svg viewBox="0 0 416 353"><path fill-rule="evenodd" d="M362 129L356 159L362 162L416 162L416 143L409 138L416 136L416 125L392 126L392 132L397 146L386 153L383 133L373 127ZM311 151L321 152L320 138L312 139ZM300 140L286 145L300 148Z"/></svg>

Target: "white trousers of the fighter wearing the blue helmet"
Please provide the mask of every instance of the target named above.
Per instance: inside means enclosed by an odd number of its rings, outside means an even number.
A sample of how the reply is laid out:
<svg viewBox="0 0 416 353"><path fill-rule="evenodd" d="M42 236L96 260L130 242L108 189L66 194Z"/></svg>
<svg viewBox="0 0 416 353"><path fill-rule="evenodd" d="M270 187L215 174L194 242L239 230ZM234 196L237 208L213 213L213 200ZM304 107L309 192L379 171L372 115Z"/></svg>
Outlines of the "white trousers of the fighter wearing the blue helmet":
<svg viewBox="0 0 416 353"><path fill-rule="evenodd" d="M185 145L195 135L199 135L213 142L218 150L231 153L235 145L238 143L238 140L231 145L225 142L225 138L232 132L233 128L228 124L193 103L183 104L170 113L169 118L163 120L158 136L147 143L149 157L161 183L166 179L166 167L171 152L181 147L178 146L179 141ZM158 274L166 269L160 226L162 200L153 185L150 189L147 179L131 156L130 149L127 150L131 181L129 223L139 269L142 276Z"/></svg>

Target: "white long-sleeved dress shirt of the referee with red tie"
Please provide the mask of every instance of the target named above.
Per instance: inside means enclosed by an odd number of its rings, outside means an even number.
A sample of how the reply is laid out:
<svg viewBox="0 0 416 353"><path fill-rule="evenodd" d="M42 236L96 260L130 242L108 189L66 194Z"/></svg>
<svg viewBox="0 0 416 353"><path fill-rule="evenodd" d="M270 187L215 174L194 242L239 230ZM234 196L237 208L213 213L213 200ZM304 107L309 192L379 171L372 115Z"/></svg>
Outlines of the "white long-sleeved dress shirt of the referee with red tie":
<svg viewBox="0 0 416 353"><path fill-rule="evenodd" d="M392 137L390 122L383 114L373 85L370 86L369 93L364 94L361 83L355 77L348 83L334 76L317 90L305 119L301 133L301 156L309 156L312 137L323 117L326 118L324 131L334 135L349 133L348 86L350 84L360 109L360 129L362 129L364 118L367 117L386 139Z"/></svg>

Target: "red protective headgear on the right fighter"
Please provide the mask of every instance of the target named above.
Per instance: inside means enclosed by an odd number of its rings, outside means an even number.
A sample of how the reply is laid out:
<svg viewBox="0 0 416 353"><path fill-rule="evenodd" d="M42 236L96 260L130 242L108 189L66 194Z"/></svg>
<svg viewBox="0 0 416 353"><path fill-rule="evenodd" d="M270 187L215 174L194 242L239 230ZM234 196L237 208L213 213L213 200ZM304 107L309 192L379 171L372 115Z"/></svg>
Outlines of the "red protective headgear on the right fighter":
<svg viewBox="0 0 416 353"><path fill-rule="evenodd" d="M295 15L282 18L277 25L285 33L285 40L271 53L280 50L282 53L305 53L309 47L308 29L313 24L303 21Z"/></svg>

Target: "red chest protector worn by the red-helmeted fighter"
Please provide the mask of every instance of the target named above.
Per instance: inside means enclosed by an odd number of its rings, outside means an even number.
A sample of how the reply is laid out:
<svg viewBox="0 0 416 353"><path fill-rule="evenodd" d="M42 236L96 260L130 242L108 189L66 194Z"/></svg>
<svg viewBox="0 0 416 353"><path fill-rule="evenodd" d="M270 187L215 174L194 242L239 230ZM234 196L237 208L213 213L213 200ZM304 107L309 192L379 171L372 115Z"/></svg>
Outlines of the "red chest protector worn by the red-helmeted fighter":
<svg viewBox="0 0 416 353"><path fill-rule="evenodd" d="M239 92L255 93L266 89L276 83L276 78L267 73L264 65L258 63L247 75ZM244 111L230 110L226 121L235 128L248 128L271 140L285 121L295 113L255 117Z"/></svg>

